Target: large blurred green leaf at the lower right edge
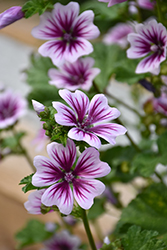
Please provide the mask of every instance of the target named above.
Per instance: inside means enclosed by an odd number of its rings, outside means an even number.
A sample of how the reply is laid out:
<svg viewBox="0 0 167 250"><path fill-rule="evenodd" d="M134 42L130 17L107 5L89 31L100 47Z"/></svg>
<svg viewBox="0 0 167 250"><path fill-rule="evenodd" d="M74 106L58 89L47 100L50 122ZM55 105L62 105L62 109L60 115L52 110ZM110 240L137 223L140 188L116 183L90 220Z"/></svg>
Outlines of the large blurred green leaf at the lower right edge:
<svg viewBox="0 0 167 250"><path fill-rule="evenodd" d="M142 229L167 233L167 188L161 183L147 187L126 208L116 226L116 233L125 233L135 224Z"/></svg>

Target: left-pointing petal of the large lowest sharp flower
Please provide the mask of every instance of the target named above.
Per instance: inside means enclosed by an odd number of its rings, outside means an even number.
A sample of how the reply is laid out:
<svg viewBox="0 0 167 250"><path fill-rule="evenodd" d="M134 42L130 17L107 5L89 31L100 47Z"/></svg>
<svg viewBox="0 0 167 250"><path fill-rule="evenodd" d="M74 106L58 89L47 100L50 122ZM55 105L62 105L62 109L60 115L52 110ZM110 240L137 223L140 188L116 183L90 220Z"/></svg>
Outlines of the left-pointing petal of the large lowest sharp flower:
<svg viewBox="0 0 167 250"><path fill-rule="evenodd" d="M64 176L55 161L45 156L35 156L34 166L37 172L32 177L32 184L36 187L49 186Z"/></svg>

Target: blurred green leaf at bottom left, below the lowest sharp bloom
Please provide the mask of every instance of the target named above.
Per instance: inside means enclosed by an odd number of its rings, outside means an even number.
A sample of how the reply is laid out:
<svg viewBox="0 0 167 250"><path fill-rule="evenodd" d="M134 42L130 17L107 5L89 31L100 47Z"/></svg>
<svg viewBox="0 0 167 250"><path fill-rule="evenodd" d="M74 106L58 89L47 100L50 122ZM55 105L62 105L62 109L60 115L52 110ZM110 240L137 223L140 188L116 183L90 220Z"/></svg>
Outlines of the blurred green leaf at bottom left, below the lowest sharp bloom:
<svg viewBox="0 0 167 250"><path fill-rule="evenodd" d="M18 248L43 242L52 236L53 233L46 231L45 224L38 220L30 220L25 228L16 234Z"/></svg>

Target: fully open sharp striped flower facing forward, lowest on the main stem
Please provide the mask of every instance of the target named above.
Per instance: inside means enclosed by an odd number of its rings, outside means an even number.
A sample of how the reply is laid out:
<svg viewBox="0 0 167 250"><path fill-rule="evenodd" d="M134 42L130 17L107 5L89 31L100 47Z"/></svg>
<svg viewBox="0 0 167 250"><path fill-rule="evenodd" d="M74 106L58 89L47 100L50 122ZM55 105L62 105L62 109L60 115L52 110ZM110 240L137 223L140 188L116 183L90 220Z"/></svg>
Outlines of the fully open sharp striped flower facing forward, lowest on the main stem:
<svg viewBox="0 0 167 250"><path fill-rule="evenodd" d="M56 205L61 213L68 215L73 209L75 198L79 206L89 209L94 197L105 189L105 185L94 178L107 175L110 172L108 164L100 161L95 148L87 148L79 156L73 170L76 147L71 139L67 139L66 147L56 142L50 143L47 152L50 159L40 155L34 158L37 172L32 177L34 186L49 186L42 195L42 204L49 207Z"/></svg>

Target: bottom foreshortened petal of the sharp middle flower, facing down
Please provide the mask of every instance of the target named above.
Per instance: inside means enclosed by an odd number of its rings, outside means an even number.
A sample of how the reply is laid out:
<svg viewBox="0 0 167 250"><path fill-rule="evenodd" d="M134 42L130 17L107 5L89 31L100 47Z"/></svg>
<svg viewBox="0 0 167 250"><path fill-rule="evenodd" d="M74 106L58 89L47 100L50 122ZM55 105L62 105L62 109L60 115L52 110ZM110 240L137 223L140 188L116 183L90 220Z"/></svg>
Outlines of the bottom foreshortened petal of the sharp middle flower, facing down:
<svg viewBox="0 0 167 250"><path fill-rule="evenodd" d="M83 131L80 128L70 129L70 131L68 132L68 137L76 141L85 141L90 146L98 148L98 149L101 146L101 141L96 135L94 135L93 133L90 133L89 131L88 132Z"/></svg>

